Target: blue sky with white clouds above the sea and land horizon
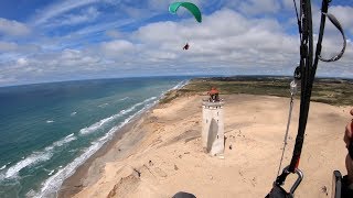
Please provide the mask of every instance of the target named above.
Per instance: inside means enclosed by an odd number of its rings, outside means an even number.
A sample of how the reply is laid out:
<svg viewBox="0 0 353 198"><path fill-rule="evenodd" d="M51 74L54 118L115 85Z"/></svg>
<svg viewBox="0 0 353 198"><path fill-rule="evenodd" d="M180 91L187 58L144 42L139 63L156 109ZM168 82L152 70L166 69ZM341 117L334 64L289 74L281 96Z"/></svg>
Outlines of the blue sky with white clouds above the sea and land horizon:
<svg viewBox="0 0 353 198"><path fill-rule="evenodd" d="M299 62L292 0L193 0L203 22L171 0L2 0L0 86L160 75L291 75ZM318 30L321 1L313 0ZM347 40L319 76L353 76L353 0L329 9ZM189 42L189 51L182 46ZM327 25L323 55L342 41Z"/></svg>

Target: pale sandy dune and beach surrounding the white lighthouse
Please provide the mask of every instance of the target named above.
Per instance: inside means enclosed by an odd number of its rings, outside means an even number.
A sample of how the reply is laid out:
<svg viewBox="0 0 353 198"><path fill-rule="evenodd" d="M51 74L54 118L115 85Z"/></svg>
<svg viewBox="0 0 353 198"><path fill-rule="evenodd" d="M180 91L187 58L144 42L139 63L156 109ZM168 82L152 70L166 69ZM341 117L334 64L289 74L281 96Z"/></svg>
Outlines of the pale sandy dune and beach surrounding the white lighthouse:
<svg viewBox="0 0 353 198"><path fill-rule="evenodd" d="M125 127L109 144L65 180L60 197L265 197L276 178L289 98L222 95L225 151L201 146L202 99L179 97ZM304 178L296 197L328 197L334 169L346 174L343 142L350 107L311 102L300 161ZM284 165L291 158L299 100L295 101ZM232 145L232 150L229 148ZM296 176L287 179L291 185ZM288 188L288 186L287 186Z"/></svg>

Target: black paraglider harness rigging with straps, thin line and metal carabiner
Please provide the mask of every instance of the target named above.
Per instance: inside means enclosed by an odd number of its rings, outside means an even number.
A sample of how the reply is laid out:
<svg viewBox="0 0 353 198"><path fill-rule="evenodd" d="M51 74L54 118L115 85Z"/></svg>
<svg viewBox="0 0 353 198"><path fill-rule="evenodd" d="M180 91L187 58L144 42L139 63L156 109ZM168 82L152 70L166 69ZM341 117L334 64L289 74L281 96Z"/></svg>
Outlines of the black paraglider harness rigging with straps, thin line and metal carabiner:
<svg viewBox="0 0 353 198"><path fill-rule="evenodd" d="M298 133L296 138L296 144L295 144L291 162L289 166L284 168L280 175L278 173L277 178L274 182L272 189L266 196L266 198L292 198L295 195L295 190L300 185L303 178L303 173L298 168L298 166L299 166L301 148L304 140L306 125L308 121L311 90L312 90L312 85L313 85L319 59L322 62L335 62L342 57L345 51L346 41L345 41L343 29L340 22L332 14L328 13L330 2L331 0L322 0L320 32L319 32L315 54L313 54L311 2L310 0L300 0L299 14L298 14L296 0L293 0L297 20L298 20L299 35L300 35L300 63L295 72L295 80L296 80L295 82L300 80L300 84L301 84L299 125L298 125ZM325 59L321 56L321 48L322 48L321 43L323 38L324 24L325 24L327 18L341 32L343 36L343 48L338 55L329 59ZM293 92L291 91L292 97L293 97ZM292 108L292 97L291 97L291 108ZM290 121L291 108L290 108L288 122ZM287 124L285 146L287 144L288 128L289 128L289 124ZM352 147L353 147L353 143L352 143ZM352 148L352 153L353 153L353 148ZM282 161L282 157L281 157L281 161ZM280 165L281 165L281 161L280 161ZM298 178L292 185L292 187L290 188L290 190L286 191L281 186L284 185L289 174L297 174ZM342 180L342 176L338 175L338 170L335 170L333 174L336 174L336 176L334 175L335 180L333 180L334 188L332 191L334 191L333 194L340 194L340 197L341 197L340 185L342 183L340 183L340 179Z"/></svg>

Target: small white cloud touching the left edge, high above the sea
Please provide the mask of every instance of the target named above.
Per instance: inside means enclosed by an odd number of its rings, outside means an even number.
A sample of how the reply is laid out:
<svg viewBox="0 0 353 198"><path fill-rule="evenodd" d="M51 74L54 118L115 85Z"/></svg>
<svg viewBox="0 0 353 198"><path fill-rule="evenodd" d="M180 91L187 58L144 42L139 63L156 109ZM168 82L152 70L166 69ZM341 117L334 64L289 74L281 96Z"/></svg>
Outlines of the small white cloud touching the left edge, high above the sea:
<svg viewBox="0 0 353 198"><path fill-rule="evenodd" d="M30 34L31 30L23 23L0 18L0 34L10 36L23 36Z"/></svg>

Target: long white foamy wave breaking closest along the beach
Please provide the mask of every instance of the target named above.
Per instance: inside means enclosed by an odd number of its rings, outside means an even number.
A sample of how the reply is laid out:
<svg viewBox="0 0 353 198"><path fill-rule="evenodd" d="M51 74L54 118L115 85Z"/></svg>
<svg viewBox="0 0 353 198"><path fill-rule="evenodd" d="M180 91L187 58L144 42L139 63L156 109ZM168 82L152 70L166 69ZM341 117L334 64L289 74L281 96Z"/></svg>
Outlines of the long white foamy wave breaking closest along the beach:
<svg viewBox="0 0 353 198"><path fill-rule="evenodd" d="M145 100L141 103L146 103L149 101L154 100L156 97L149 98ZM114 127L113 129L109 130L104 136L98 139L97 141L93 142L89 147L87 147L81 156L75 158L72 163L67 164L64 168L61 168L47 178L43 184L42 188L39 193L32 194L33 191L30 193L29 196L33 197L51 197L52 195L56 195L56 191L60 189L61 185L63 184L64 179L67 177L72 176L76 168L82 165L85 161L87 161L94 153L96 153L107 141L109 141L115 132L119 129L121 129L125 124L129 123L132 118L137 117L138 114L141 114L145 112L148 108L150 108L152 105L154 105L157 101L151 102L151 103L146 103L145 107L137 111L136 113L129 116L127 119L124 120L119 125Z"/></svg>

